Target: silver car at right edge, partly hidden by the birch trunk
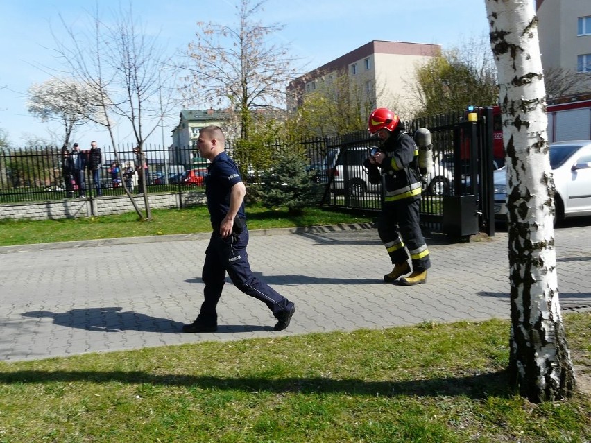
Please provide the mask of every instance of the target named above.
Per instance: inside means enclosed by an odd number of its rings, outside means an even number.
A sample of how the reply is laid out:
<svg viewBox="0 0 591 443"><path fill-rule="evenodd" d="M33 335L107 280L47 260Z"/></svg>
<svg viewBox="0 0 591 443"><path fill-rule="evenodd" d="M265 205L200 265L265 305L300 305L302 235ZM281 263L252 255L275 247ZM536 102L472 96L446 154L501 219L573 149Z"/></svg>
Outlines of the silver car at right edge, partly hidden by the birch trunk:
<svg viewBox="0 0 591 443"><path fill-rule="evenodd" d="M551 144L550 167L556 186L554 224L564 218L591 216L591 140ZM506 181L506 168L495 171L495 214L497 207L499 214L507 214Z"/></svg>

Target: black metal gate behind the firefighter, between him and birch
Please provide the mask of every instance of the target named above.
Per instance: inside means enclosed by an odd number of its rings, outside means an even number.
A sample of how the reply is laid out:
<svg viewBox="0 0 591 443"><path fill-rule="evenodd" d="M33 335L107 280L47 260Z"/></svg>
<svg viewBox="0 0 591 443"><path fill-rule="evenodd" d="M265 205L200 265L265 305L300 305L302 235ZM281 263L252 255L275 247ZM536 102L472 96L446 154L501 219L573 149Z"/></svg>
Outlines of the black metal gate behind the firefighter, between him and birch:
<svg viewBox="0 0 591 443"><path fill-rule="evenodd" d="M421 225L432 232L493 236L493 108L417 119L406 127L411 134L418 128L429 129L433 143L433 171L423 181ZM325 139L327 155L318 171L318 180L325 183L321 206L379 211L381 186L368 182L362 166L368 149L379 141L375 137L331 141ZM477 232L465 232L466 220L468 225L474 221Z"/></svg>

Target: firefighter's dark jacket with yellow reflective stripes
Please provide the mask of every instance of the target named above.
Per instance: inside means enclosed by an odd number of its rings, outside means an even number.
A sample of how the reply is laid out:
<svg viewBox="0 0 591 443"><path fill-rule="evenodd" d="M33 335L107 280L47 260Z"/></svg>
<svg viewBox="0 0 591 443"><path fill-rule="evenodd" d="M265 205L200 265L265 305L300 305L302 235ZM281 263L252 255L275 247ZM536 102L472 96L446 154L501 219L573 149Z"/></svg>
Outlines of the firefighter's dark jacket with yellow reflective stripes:
<svg viewBox="0 0 591 443"><path fill-rule="evenodd" d="M421 178L418 173L418 148L413 138L403 130L395 130L382 146L386 158L382 170L384 204L404 198L420 198Z"/></svg>

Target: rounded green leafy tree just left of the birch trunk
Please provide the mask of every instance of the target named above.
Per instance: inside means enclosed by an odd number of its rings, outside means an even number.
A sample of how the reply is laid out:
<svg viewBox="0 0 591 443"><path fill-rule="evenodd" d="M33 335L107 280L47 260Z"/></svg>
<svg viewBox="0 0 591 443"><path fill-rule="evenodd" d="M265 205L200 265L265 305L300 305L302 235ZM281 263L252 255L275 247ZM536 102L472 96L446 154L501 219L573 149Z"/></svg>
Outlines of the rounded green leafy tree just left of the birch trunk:
<svg viewBox="0 0 591 443"><path fill-rule="evenodd" d="M418 117L461 112L468 105L489 106L499 97L492 53L476 40L419 67L416 84L409 87L420 104Z"/></svg>

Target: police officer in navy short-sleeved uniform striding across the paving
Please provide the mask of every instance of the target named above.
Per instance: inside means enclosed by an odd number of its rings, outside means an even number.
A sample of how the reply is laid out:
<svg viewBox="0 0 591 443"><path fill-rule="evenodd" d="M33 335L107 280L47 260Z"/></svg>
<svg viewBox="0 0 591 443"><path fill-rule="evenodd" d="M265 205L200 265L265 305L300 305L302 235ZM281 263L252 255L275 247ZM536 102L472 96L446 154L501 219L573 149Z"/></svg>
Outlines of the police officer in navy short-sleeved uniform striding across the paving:
<svg viewBox="0 0 591 443"><path fill-rule="evenodd" d="M183 332L214 332L217 329L216 306L221 297L225 274L234 286L250 297L255 297L271 309L277 324L275 331L288 327L295 304L277 293L264 281L252 275L246 245L248 229L244 211L246 187L236 164L224 148L225 137L218 126L200 130L197 146L201 157L208 159L209 173L205 178L207 209L213 232L205 250L202 279L205 299L196 320L182 327Z"/></svg>

